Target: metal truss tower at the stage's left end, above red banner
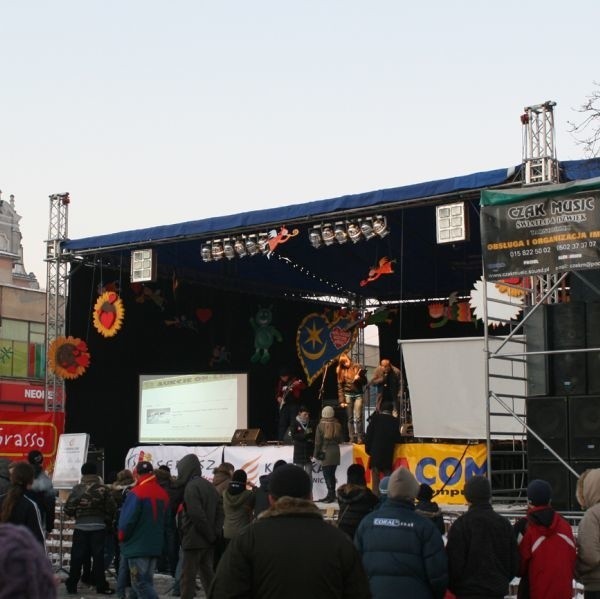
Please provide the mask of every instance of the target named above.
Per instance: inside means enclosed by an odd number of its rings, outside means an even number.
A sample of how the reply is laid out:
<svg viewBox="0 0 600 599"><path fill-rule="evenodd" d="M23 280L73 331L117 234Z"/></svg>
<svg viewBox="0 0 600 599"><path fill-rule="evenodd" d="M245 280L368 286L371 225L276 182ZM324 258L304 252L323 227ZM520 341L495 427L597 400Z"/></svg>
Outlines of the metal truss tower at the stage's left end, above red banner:
<svg viewBox="0 0 600 599"><path fill-rule="evenodd" d="M64 380L54 374L49 365L49 348L65 335L67 276L69 264L61 257L60 244L67 239L69 194L50 196L50 219L46 240L46 393L44 409L62 412L65 407Z"/></svg>

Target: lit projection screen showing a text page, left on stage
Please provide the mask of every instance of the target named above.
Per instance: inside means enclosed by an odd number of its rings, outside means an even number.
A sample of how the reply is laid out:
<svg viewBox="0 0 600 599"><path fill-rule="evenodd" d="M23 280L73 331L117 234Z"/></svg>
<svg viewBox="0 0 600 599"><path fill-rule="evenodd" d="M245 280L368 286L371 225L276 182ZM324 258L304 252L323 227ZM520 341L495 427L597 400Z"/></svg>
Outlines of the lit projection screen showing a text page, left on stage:
<svg viewBox="0 0 600 599"><path fill-rule="evenodd" d="M140 375L140 443L228 443L248 428L248 375Z"/></svg>

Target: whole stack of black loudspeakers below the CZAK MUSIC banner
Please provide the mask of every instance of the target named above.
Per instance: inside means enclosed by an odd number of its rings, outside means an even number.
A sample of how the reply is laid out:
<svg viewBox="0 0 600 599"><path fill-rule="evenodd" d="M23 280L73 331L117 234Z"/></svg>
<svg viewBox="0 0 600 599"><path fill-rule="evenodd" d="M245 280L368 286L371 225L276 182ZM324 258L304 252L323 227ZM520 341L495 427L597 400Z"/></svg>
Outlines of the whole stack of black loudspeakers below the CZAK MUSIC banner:
<svg viewBox="0 0 600 599"><path fill-rule="evenodd" d="M543 441L527 433L528 477L550 483L556 509L578 510L577 479L548 447L579 474L600 468L600 352L571 351L600 347L600 302L535 311L525 323L527 351L561 353L527 357L527 423Z"/></svg>

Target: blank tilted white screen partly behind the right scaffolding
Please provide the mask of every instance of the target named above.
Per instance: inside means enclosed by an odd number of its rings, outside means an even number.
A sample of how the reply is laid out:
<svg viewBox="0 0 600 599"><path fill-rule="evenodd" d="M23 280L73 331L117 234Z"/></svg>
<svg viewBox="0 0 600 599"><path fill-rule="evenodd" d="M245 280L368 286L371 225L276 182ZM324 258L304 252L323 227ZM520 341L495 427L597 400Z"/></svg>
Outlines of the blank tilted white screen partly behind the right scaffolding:
<svg viewBox="0 0 600 599"><path fill-rule="evenodd" d="M491 339L491 349L493 343L497 346L500 342ZM508 342L501 353L513 352L522 353L523 345ZM403 341L402 353L415 437L485 439L487 404L483 337ZM495 374L521 379L495 378L494 391L520 396L512 399L510 404L517 414L523 414L525 366L519 364L515 372L514 361L491 360L490 368ZM507 413L494 403L492 412ZM523 425L512 417L492 416L491 430L523 432Z"/></svg>

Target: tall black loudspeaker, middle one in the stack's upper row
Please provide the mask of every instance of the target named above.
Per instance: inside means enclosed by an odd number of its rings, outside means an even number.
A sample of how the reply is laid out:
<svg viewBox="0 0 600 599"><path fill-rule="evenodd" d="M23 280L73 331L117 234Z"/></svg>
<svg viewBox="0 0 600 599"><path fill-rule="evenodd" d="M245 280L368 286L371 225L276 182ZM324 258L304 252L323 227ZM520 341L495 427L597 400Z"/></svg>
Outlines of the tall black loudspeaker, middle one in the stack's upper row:
<svg viewBox="0 0 600 599"><path fill-rule="evenodd" d="M585 349L585 304L568 302L548 305L550 349ZM552 383L555 395L587 392L586 354L552 354Z"/></svg>

